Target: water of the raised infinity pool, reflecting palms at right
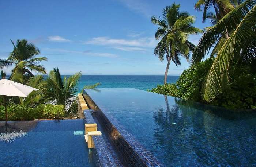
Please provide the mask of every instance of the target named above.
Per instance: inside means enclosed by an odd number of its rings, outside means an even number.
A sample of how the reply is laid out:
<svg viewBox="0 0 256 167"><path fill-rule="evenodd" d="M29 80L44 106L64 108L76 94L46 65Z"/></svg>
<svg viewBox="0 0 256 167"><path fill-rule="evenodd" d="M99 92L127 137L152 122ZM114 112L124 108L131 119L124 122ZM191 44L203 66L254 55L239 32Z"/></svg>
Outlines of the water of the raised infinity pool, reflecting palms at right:
<svg viewBox="0 0 256 167"><path fill-rule="evenodd" d="M256 166L256 115L143 90L86 90L164 166Z"/></svg>

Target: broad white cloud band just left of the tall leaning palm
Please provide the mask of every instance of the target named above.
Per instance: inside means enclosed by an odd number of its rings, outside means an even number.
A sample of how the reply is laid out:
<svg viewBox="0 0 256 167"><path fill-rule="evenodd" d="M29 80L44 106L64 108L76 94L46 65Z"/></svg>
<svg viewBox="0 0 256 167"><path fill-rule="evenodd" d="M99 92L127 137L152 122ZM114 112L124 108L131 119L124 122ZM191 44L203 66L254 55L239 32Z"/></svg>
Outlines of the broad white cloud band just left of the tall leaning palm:
<svg viewBox="0 0 256 167"><path fill-rule="evenodd" d="M155 47L157 40L154 37L138 38L138 39L114 39L109 37L95 37L84 44L106 45L106 46L136 46L136 47Z"/></svg>

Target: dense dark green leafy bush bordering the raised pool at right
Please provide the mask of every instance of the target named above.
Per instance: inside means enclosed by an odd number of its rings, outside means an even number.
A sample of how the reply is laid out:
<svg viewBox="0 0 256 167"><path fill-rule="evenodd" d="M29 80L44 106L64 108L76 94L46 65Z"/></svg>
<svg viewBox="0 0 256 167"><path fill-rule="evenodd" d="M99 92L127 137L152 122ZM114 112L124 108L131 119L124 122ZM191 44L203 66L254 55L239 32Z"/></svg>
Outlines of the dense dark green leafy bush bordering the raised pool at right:
<svg viewBox="0 0 256 167"><path fill-rule="evenodd" d="M202 101L204 78L214 59L207 59L183 71L176 83L157 85L151 92L179 97L185 100ZM230 73L230 86L223 89L220 96L211 105L229 109L256 108L256 73L253 67L241 65Z"/></svg>

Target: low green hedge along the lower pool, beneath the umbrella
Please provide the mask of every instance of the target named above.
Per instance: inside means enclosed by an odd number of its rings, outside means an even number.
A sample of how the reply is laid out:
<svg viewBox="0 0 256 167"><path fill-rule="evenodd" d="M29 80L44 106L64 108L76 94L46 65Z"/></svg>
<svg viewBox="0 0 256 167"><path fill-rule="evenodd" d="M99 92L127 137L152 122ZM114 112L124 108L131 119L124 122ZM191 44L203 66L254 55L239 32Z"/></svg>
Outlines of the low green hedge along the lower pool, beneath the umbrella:
<svg viewBox="0 0 256 167"><path fill-rule="evenodd" d="M7 107L8 120L34 120L34 119L45 119L63 117L65 112L62 107L55 106L52 104L39 104L37 107L25 107L20 104L10 104ZM5 120L4 106L0 106L0 120Z"/></svg>

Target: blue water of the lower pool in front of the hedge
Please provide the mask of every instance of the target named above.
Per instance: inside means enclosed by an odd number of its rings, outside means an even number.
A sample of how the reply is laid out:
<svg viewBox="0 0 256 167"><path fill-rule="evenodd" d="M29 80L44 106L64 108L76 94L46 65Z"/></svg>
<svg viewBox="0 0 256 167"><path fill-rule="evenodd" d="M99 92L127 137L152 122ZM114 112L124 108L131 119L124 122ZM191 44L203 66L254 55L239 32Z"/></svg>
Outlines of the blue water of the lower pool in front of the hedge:
<svg viewBox="0 0 256 167"><path fill-rule="evenodd" d="M0 122L0 166L94 166L83 120Z"/></svg>

